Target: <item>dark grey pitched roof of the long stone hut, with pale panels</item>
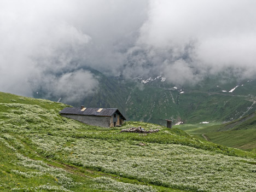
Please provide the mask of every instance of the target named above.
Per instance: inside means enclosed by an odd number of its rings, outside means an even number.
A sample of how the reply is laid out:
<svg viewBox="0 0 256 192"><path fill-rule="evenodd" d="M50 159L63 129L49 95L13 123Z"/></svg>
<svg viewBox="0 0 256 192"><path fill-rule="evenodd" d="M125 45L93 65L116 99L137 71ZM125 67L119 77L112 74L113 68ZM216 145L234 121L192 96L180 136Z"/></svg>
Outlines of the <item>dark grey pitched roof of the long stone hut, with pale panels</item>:
<svg viewBox="0 0 256 192"><path fill-rule="evenodd" d="M117 108L102 108L101 112L97 112L100 108L86 108L84 111L81 111L81 109L81 107L66 107L65 109L62 109L59 113L111 117L115 112L117 112L120 114L121 118L126 120L124 115L122 115Z"/></svg>

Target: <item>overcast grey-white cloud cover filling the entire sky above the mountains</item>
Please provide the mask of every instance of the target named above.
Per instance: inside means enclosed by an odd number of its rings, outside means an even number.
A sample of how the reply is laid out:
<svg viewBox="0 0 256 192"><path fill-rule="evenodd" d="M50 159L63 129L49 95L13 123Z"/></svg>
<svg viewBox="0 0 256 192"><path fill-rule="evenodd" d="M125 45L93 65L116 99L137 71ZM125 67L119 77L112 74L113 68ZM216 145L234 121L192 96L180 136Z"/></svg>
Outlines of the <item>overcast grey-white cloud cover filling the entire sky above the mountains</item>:
<svg viewBox="0 0 256 192"><path fill-rule="evenodd" d="M88 67L179 85L228 70L253 78L256 1L2 0L0 42L0 91L26 96L89 94Z"/></svg>

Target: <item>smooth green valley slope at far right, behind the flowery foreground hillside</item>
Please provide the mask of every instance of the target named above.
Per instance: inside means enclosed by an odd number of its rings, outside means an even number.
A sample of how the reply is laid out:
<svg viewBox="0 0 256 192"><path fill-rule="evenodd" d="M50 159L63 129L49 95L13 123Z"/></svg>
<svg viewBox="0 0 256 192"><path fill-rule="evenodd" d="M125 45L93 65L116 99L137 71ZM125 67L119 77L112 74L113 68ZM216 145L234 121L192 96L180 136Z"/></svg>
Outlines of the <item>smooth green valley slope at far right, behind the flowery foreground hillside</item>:
<svg viewBox="0 0 256 192"><path fill-rule="evenodd" d="M197 138L202 139L204 136L209 141L228 147L252 151L256 149L255 113L225 124L194 124L192 126L179 125L177 127Z"/></svg>

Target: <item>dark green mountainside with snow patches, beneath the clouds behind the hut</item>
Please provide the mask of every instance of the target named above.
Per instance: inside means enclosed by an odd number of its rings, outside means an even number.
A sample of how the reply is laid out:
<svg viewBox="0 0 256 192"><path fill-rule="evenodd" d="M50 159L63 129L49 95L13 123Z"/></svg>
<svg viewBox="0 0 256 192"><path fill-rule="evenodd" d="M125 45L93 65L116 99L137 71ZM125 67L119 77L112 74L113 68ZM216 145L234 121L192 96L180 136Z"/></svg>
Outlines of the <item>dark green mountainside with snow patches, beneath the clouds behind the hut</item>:
<svg viewBox="0 0 256 192"><path fill-rule="evenodd" d="M194 86L178 86L168 83L161 75L127 80L107 77L93 69L91 72L99 81L95 94L67 104L118 108L129 120L161 125L165 124L165 119L176 123L231 121L256 109L256 82L253 80L237 83L235 79L230 82L209 77Z"/></svg>

